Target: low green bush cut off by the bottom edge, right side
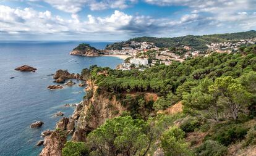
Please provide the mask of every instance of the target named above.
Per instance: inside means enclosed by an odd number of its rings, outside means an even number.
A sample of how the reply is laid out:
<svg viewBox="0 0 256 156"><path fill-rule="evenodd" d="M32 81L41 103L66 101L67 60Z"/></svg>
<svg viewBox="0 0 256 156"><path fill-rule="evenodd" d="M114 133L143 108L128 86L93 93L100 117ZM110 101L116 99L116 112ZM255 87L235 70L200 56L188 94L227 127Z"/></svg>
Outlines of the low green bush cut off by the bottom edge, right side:
<svg viewBox="0 0 256 156"><path fill-rule="evenodd" d="M217 141L205 141L195 150L198 156L222 156L226 155L228 149Z"/></svg>

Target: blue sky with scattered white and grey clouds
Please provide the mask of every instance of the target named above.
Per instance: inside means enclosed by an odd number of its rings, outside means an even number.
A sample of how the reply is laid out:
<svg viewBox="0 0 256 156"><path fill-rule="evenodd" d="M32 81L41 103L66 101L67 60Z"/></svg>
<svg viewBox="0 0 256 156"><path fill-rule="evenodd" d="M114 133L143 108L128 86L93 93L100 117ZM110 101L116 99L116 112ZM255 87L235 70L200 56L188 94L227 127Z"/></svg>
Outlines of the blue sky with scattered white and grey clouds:
<svg viewBox="0 0 256 156"><path fill-rule="evenodd" d="M0 0L0 40L121 41L256 30L256 0Z"/></svg>

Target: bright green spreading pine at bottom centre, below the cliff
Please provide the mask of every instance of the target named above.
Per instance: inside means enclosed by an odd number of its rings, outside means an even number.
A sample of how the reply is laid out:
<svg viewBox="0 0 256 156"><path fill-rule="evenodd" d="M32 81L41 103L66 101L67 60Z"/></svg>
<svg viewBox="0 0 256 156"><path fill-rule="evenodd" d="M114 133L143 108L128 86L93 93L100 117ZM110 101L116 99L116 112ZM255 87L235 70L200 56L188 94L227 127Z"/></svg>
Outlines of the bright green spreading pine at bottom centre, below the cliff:
<svg viewBox="0 0 256 156"><path fill-rule="evenodd" d="M145 155L148 124L130 116L107 120L88 134L88 144L96 155Z"/></svg>

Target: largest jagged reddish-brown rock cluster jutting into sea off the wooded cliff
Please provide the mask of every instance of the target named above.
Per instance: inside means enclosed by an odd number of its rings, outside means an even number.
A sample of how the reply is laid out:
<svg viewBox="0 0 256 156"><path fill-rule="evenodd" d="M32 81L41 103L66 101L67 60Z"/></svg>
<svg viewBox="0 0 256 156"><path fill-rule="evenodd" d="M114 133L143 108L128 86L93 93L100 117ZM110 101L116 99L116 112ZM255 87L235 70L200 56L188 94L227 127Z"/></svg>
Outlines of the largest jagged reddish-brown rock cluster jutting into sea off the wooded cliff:
<svg viewBox="0 0 256 156"><path fill-rule="evenodd" d="M70 74L67 70L58 70L54 75L53 78L55 79L54 82L56 83L64 83L66 79L77 79L80 75L77 73Z"/></svg>

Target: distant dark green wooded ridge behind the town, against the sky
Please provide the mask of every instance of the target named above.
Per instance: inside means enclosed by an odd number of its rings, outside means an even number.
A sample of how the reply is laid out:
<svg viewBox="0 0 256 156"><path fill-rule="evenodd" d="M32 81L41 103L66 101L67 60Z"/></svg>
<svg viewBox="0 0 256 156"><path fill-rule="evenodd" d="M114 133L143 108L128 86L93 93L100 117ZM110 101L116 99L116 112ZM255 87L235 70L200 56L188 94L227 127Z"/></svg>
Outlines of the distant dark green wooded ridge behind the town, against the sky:
<svg viewBox="0 0 256 156"><path fill-rule="evenodd" d="M205 44L210 43L221 43L226 41L237 41L240 39L251 39L256 37L256 31L246 31L241 33L227 33L227 34L215 34L215 35L203 35L203 36L194 36L187 35L182 37L175 38L153 38L153 37L140 37L129 39L126 42L114 43L110 46L107 46L107 49L121 49L121 47L125 47L131 41L136 42L150 42L155 43L158 47L177 47L181 45L191 46L197 50L207 49Z"/></svg>

